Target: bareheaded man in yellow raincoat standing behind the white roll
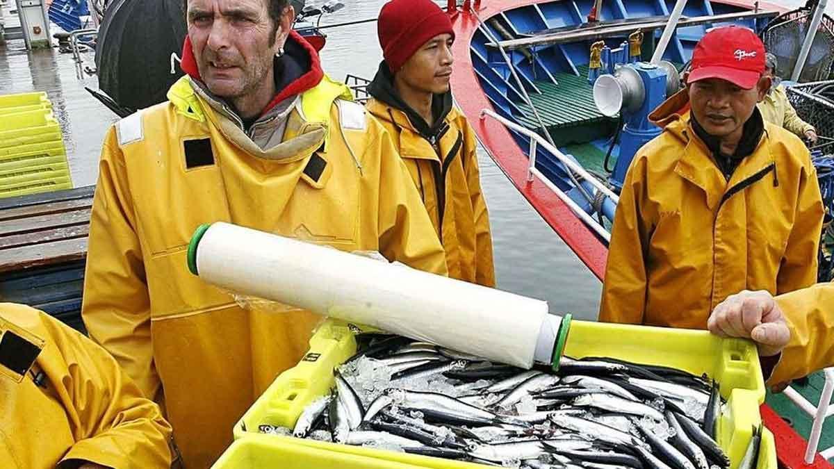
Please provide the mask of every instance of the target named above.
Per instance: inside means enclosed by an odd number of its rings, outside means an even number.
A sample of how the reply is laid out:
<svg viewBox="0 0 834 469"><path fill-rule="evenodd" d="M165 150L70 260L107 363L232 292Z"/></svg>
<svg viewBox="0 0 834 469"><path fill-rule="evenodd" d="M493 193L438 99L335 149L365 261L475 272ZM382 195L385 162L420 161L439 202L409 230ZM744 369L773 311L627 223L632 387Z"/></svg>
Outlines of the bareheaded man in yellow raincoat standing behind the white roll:
<svg viewBox="0 0 834 469"><path fill-rule="evenodd" d="M187 75L104 140L83 320L163 404L188 469L308 349L319 317L244 308L188 271L199 224L225 221L445 275L391 139L291 32L284 0L188 0ZM316 279L309 279L315 282Z"/></svg>

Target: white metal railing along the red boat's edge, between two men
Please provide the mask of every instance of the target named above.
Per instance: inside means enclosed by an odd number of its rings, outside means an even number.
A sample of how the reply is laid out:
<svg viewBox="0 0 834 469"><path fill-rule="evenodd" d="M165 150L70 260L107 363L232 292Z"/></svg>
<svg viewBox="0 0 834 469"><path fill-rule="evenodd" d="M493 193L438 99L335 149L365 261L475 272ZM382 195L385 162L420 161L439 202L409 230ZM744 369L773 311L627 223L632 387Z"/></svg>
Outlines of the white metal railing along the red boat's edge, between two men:
<svg viewBox="0 0 834 469"><path fill-rule="evenodd" d="M568 194L565 194L565 191L560 189L556 184L548 179L544 174L541 174L539 169L535 167L535 154L538 151L539 145L550 154L552 154L556 159L559 159L562 164L565 164L569 170L573 170L576 174L579 174L582 178L588 181L594 188L605 194L606 197L611 199L614 203L620 201L620 197L617 194L609 189L605 184L602 184L598 179L596 179L592 174L588 173L585 168L582 168L580 164L577 164L574 159L570 158L570 156L562 153L559 149L557 149L553 144L550 144L545 138L543 138L540 134L536 134L530 129L527 129L515 122L512 122L508 119L501 117L499 114L495 113L491 109L481 109L480 111L480 119L486 119L489 116L492 119L500 122L500 124L504 124L504 126L508 129L512 129L515 132L525 135L525 137L530 139L530 151L528 153L530 163L527 165L527 180L532 182L534 179L540 179L542 183L544 183L554 194L556 197L564 202L570 209L576 214L576 216L580 217L586 224L590 226L591 229L594 229L597 234L599 234L605 241L611 240L611 234L608 229L605 229L605 226L600 224L599 221L594 219L590 214L585 212L579 204L576 204L573 199L570 199Z"/></svg>

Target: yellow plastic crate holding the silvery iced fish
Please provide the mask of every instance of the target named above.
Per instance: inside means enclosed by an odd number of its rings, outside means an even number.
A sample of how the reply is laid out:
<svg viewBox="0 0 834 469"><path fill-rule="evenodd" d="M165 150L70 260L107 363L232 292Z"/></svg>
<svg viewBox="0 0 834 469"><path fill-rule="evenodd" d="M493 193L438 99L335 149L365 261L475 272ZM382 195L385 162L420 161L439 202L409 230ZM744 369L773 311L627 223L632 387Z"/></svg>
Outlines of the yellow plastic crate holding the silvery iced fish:
<svg viewBox="0 0 834 469"><path fill-rule="evenodd" d="M278 376L235 425L235 439L248 438L258 432L260 425L292 428L305 406L329 392L334 384L334 367L347 361L355 351L356 340L349 327L339 321L325 321L310 339L307 355L297 366ZM571 323L565 355L574 358L605 356L645 365L671 366L696 375L706 373L715 378L721 383L721 394L727 400L718 425L718 442L730 456L731 469L735 469L741 461L753 427L761 424L759 405L765 399L765 386L756 347L749 341L721 339L705 330L575 320ZM275 441L294 441L323 451L372 456L392 462L449 469L485 467L361 446L268 436ZM773 435L765 430L762 432L757 469L776 469L776 463Z"/></svg>

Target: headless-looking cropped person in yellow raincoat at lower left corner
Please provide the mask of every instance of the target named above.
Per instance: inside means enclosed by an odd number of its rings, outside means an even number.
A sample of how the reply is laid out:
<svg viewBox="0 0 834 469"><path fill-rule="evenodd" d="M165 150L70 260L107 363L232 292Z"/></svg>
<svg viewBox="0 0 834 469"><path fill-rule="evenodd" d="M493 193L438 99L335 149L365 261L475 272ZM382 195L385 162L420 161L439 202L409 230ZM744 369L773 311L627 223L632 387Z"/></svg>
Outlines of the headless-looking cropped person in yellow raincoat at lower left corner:
<svg viewBox="0 0 834 469"><path fill-rule="evenodd" d="M0 467L168 469L170 438L107 350L42 311L0 303Z"/></svg>

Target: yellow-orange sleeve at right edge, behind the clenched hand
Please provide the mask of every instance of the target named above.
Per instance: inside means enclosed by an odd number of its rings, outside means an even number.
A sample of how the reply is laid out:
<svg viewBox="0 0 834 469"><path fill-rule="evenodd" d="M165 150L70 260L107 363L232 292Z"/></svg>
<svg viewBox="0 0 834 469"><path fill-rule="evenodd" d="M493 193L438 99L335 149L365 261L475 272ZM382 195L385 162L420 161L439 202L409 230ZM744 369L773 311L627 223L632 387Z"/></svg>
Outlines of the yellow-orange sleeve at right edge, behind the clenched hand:
<svg viewBox="0 0 834 469"><path fill-rule="evenodd" d="M776 384L834 366L834 283L776 297L791 328L791 341L768 383Z"/></svg>

